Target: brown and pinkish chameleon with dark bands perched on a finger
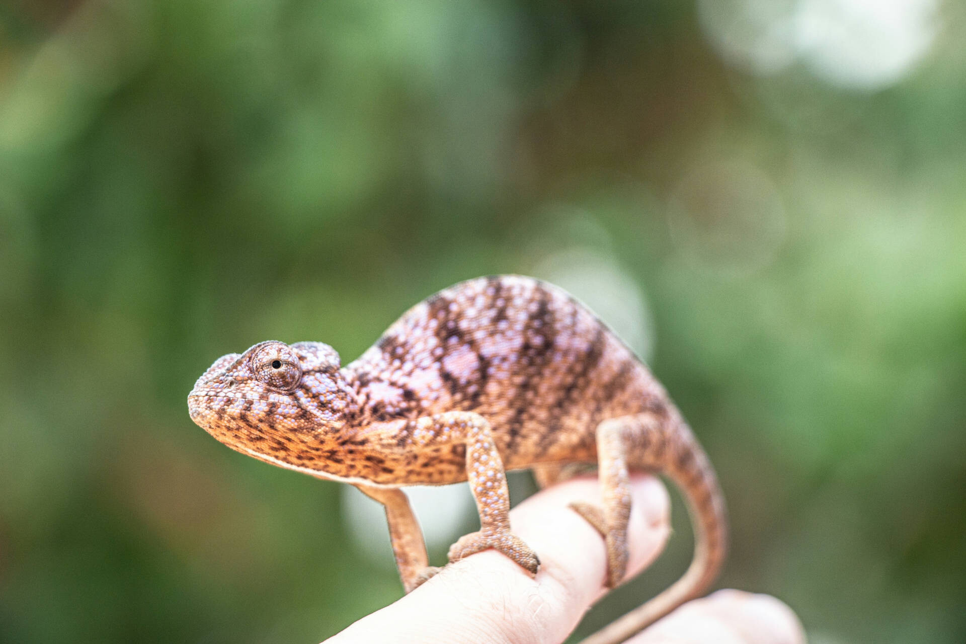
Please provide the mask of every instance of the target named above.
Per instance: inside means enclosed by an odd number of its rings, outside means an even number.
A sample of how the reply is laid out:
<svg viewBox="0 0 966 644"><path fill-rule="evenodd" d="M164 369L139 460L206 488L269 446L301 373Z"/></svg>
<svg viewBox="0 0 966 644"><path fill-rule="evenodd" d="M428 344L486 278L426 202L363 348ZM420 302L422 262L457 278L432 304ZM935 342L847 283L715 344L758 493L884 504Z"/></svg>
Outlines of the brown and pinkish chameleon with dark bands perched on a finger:
<svg viewBox="0 0 966 644"><path fill-rule="evenodd" d="M494 548L536 575L540 559L511 530L507 470L539 487L596 464L599 505L571 507L603 536L605 583L624 580L629 471L662 473L687 501L695 555L667 590L583 644L615 644L699 596L725 559L715 471L665 388L605 323L564 290L520 275L461 282L413 306L354 362L326 344L261 342L198 378L191 419L228 447L384 505L405 592L429 566L403 490L469 481L480 529L458 561Z"/></svg>

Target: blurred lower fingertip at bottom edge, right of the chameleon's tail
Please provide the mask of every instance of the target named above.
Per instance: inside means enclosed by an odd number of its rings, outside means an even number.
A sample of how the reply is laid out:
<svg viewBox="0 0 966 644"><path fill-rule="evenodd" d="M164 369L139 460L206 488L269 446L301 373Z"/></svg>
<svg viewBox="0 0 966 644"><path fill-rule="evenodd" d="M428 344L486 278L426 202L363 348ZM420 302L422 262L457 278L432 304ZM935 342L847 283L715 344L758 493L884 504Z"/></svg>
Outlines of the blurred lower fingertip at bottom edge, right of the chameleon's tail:
<svg viewBox="0 0 966 644"><path fill-rule="evenodd" d="M627 644L805 644L795 613L767 595L723 590L688 602Z"/></svg>

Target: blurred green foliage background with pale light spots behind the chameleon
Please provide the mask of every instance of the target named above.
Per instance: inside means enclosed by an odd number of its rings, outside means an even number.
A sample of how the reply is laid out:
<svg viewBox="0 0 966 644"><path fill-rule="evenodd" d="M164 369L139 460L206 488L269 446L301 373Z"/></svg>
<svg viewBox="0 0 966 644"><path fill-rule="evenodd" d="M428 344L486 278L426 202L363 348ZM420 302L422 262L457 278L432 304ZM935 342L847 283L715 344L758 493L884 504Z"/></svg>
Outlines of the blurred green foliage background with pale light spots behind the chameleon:
<svg viewBox="0 0 966 644"><path fill-rule="evenodd" d="M958 2L8 0L0 640L316 642L392 602L352 497L185 395L522 272L691 420L722 586L820 644L961 644L964 244ZM675 522L582 632L683 571Z"/></svg>

